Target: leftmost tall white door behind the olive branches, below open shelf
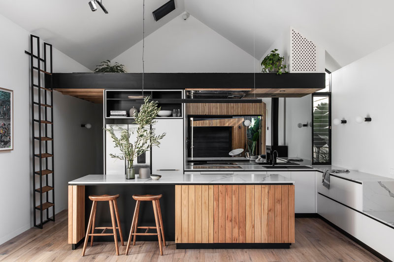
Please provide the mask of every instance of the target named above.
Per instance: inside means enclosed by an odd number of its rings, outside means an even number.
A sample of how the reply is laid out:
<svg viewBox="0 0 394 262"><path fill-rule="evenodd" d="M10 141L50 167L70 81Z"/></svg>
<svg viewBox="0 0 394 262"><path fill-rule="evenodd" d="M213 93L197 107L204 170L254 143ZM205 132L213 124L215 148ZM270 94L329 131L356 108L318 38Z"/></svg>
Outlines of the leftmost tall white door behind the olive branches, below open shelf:
<svg viewBox="0 0 394 262"><path fill-rule="evenodd" d="M106 125L109 128L111 125ZM112 125L116 137L120 137L119 127L127 128L127 125ZM115 148L115 144L108 132L105 132L105 174L106 175L125 175L125 160L112 158L109 154L120 154L119 148Z"/></svg>

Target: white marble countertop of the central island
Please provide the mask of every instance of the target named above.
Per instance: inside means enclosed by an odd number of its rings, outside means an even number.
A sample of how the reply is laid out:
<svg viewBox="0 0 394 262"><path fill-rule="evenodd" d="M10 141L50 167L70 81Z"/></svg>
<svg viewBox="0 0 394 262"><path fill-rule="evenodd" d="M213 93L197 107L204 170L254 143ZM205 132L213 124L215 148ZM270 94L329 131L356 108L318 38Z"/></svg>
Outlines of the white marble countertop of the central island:
<svg viewBox="0 0 394 262"><path fill-rule="evenodd" d="M163 175L159 180L126 179L125 175L85 175L68 182L69 185L100 184L294 184L278 174L217 174L217 175Z"/></svg>

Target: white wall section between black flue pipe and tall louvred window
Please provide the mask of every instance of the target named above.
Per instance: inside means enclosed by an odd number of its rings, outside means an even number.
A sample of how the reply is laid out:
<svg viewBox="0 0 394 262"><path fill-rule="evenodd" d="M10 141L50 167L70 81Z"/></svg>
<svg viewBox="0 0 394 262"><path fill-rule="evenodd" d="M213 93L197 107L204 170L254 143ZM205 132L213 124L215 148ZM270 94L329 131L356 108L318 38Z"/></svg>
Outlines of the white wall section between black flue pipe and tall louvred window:
<svg viewBox="0 0 394 262"><path fill-rule="evenodd" d="M290 157L312 158L312 98L307 95L301 98L286 98L286 145L289 146ZM307 127L298 128L297 124Z"/></svg>

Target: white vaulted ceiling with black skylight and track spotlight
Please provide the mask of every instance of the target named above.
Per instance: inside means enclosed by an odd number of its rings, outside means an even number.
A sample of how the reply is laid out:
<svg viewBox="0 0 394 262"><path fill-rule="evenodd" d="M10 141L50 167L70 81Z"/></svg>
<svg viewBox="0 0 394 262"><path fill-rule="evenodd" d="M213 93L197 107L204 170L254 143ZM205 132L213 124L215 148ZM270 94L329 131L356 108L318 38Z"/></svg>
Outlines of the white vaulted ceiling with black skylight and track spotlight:
<svg viewBox="0 0 394 262"><path fill-rule="evenodd" d="M290 26L341 66L394 42L392 0L175 0L176 10L155 22L152 11L166 1L146 0L146 34L186 10L257 59ZM1 0L0 13L94 69L142 39L142 0L103 4L107 15L91 12L88 0Z"/></svg>

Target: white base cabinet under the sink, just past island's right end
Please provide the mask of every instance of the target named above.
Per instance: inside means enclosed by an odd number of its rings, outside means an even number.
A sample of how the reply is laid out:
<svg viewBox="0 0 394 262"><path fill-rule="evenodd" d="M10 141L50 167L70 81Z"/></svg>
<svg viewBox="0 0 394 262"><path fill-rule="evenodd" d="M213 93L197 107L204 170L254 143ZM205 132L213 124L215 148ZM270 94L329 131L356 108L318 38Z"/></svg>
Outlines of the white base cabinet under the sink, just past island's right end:
<svg viewBox="0 0 394 262"><path fill-rule="evenodd" d="M296 213L316 213L315 208L315 172L291 172L295 182Z"/></svg>

